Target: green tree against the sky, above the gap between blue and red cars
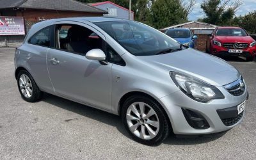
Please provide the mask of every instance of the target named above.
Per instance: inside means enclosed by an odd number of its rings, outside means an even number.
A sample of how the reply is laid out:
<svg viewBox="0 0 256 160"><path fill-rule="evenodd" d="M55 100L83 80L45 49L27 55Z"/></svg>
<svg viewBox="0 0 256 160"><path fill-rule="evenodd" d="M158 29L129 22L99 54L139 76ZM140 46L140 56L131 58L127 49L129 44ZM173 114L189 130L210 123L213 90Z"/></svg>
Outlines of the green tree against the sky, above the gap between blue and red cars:
<svg viewBox="0 0 256 160"><path fill-rule="evenodd" d="M237 8L239 8L241 4L243 4L241 0L204 0L201 4L201 8L205 13L203 22L217 25L230 25L232 24L232 19L234 18Z"/></svg>

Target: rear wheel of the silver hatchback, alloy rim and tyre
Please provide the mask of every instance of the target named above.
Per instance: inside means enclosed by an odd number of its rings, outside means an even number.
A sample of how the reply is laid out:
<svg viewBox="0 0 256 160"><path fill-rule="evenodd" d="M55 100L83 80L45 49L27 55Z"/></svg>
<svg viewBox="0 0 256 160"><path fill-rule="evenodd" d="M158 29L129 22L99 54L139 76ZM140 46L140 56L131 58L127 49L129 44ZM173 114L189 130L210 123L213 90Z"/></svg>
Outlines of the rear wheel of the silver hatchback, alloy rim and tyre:
<svg viewBox="0 0 256 160"><path fill-rule="evenodd" d="M20 70L17 76L17 84L22 99L27 102L36 102L42 99L43 92L40 91L28 71Z"/></svg>

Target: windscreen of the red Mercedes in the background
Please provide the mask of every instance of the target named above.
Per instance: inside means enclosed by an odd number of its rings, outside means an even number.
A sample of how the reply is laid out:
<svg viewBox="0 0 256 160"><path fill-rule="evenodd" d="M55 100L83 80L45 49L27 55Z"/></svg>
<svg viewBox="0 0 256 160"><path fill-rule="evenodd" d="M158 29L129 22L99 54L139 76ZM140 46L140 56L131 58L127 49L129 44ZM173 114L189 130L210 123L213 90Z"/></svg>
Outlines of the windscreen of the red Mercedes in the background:
<svg viewBox="0 0 256 160"><path fill-rule="evenodd" d="M223 28L217 29L216 36L247 36L247 33L240 28Z"/></svg>

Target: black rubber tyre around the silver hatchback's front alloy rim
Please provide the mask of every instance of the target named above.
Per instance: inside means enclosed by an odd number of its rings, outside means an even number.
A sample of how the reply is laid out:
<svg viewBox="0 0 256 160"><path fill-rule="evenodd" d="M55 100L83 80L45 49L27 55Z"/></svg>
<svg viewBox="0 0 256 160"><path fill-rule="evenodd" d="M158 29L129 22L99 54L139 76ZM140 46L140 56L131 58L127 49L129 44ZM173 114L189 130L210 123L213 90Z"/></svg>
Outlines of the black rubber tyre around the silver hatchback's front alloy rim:
<svg viewBox="0 0 256 160"><path fill-rule="evenodd" d="M148 104L152 109L154 109L154 111L156 111L156 114L159 119L159 132L157 133L157 136L155 138L151 140L142 140L141 138L138 138L130 131L129 126L127 124L127 120L126 120L126 112L129 106L134 102L144 102ZM169 132L168 122L167 122L166 116L164 115L163 109L161 108L161 106L159 106L159 104L157 104L156 102L154 102L154 100L151 100L148 97L136 96L136 97L130 97L127 100L125 100L122 108L122 121L125 125L125 129L129 132L132 138L144 145L159 145L167 137Z"/></svg>

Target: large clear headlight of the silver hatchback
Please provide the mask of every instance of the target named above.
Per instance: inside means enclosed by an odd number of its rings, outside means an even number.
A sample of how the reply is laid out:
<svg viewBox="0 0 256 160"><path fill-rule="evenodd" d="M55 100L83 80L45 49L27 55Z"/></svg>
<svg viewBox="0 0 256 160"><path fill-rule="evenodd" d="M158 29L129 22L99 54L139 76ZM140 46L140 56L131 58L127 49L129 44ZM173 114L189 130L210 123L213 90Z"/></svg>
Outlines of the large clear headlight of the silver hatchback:
<svg viewBox="0 0 256 160"><path fill-rule="evenodd" d="M215 86L177 72L170 72L170 76L182 92L198 102L205 103L212 99L224 99L224 95Z"/></svg>

